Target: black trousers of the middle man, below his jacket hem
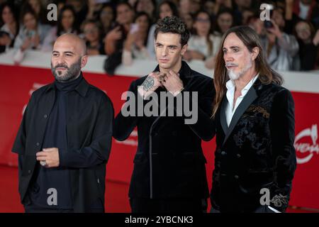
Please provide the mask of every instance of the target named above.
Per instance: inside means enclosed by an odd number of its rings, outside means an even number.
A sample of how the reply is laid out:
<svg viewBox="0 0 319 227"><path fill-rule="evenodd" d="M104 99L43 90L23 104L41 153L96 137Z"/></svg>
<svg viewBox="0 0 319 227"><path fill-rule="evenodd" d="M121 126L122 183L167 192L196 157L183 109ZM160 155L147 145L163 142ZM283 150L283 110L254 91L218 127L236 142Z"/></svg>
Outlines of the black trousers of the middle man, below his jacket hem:
<svg viewBox="0 0 319 227"><path fill-rule="evenodd" d="M132 213L206 213L207 199L131 198Z"/></svg>

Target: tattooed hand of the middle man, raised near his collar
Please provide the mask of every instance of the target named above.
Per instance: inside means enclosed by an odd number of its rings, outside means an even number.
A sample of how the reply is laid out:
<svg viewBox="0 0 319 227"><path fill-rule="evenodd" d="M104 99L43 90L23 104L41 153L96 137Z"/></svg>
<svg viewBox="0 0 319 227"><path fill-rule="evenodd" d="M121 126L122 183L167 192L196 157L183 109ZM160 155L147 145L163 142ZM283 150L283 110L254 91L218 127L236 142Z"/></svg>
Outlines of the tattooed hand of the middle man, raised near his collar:
<svg viewBox="0 0 319 227"><path fill-rule="evenodd" d="M151 72L146 77L145 81L138 87L138 93L143 98L149 96L152 92L155 92L155 90L158 87L162 87L161 82L159 82L159 77L164 78L164 74L161 72Z"/></svg>

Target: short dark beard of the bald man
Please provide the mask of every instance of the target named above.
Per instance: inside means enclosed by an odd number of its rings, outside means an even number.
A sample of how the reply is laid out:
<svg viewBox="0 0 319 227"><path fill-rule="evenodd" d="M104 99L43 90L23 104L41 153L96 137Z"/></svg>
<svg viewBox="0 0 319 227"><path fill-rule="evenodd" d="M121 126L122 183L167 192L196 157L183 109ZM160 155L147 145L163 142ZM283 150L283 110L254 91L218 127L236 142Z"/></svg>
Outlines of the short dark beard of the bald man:
<svg viewBox="0 0 319 227"><path fill-rule="evenodd" d="M66 69L65 72L57 71L57 68L59 67L65 68ZM81 57L79 58L77 62L72 64L70 67L67 67L66 64L57 64L55 65L55 67L53 67L51 62L51 71L58 82L72 81L73 79L76 79L77 76L79 75L79 72L81 72Z"/></svg>

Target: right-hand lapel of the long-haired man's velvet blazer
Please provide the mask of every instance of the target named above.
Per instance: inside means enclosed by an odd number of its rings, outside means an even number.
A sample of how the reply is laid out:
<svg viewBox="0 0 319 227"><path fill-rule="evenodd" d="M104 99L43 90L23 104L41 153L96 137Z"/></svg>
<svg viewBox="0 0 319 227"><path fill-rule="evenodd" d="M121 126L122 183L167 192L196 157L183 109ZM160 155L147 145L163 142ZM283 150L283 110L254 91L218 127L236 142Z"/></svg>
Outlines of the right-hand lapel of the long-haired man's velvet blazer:
<svg viewBox="0 0 319 227"><path fill-rule="evenodd" d="M257 93L256 93L256 90L254 89L254 86L252 86L250 90L247 92L247 94L245 95L244 99L242 99L242 102L240 103L240 105L237 107L235 114L233 115L232 121L230 121L230 126L228 128L228 132L225 135L223 145L225 144L230 134L233 132L242 114L245 113L246 109L250 106L250 104L252 104L252 102L255 99L257 99ZM222 116L223 115L225 116L225 111L223 112Z"/></svg>

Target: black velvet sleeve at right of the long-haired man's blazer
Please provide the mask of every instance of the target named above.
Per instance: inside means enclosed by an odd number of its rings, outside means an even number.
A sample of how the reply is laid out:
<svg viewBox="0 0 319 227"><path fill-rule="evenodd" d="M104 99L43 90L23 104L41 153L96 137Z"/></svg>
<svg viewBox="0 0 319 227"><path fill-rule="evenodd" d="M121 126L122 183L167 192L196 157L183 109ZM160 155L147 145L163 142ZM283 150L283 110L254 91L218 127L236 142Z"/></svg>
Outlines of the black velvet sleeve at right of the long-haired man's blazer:
<svg viewBox="0 0 319 227"><path fill-rule="evenodd" d="M295 138L294 103L289 90L283 89L274 97L269 123L276 181L276 186L271 192L271 206L279 211L285 211L296 170L296 151L293 147Z"/></svg>

